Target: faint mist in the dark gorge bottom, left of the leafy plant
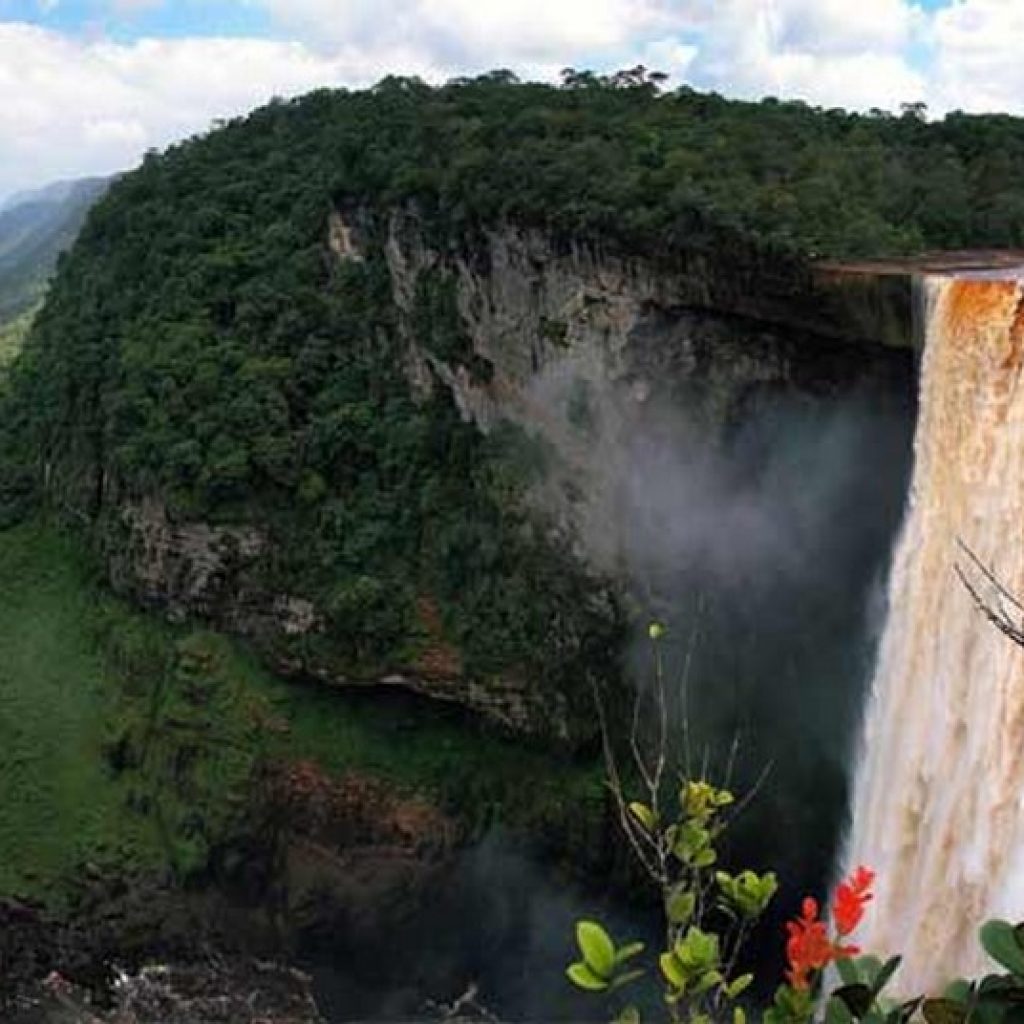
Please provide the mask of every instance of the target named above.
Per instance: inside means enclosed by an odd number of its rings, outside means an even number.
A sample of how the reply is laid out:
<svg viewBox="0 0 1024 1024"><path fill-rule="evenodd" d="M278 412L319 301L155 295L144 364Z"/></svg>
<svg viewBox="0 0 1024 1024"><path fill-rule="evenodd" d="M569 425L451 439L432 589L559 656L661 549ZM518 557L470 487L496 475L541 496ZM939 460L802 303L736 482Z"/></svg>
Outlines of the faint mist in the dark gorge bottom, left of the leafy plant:
<svg viewBox="0 0 1024 1024"><path fill-rule="evenodd" d="M565 978L575 923L600 918L617 936L654 937L653 919L616 907L500 828L447 865L412 902L386 945L321 954L314 993L331 1021L440 1020L469 991L505 1022L606 1019L606 1006Z"/></svg>

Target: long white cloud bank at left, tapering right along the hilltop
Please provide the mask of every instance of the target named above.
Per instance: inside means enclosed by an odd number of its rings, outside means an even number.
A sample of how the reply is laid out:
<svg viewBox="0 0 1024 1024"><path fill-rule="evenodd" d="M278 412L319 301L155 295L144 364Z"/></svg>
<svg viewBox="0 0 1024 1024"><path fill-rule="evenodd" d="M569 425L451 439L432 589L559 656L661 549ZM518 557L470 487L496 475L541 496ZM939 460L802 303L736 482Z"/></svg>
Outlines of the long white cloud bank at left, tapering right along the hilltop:
<svg viewBox="0 0 1024 1024"><path fill-rule="evenodd" d="M272 95L368 84L412 60L400 49L328 57L259 39L120 44L0 23L0 196L130 167Z"/></svg>

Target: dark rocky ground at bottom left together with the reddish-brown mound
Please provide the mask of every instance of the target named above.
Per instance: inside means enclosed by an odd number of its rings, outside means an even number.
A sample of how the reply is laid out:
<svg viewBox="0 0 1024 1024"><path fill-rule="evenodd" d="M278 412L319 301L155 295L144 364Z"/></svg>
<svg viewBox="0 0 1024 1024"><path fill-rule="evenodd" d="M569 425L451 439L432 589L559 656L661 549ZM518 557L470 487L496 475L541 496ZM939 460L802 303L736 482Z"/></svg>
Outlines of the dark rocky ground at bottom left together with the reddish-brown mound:
<svg viewBox="0 0 1024 1024"><path fill-rule="evenodd" d="M271 788L262 820L194 884L86 867L59 913L0 901L0 1021L323 1021L312 979L289 966L297 950L318 935L382 948L451 859L456 830L427 804L309 764Z"/></svg>

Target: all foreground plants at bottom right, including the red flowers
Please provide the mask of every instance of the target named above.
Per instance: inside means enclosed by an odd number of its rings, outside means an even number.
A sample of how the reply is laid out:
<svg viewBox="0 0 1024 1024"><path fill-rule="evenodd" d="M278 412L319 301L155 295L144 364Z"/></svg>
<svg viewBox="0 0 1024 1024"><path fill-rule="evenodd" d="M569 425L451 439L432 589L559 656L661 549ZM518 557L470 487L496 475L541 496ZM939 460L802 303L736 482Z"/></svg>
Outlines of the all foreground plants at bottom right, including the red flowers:
<svg viewBox="0 0 1024 1024"><path fill-rule="evenodd" d="M717 868L717 843L728 824L735 798L728 788L687 777L687 759L677 770L672 813L666 808L669 725L668 701L658 642L665 634L652 624L654 650L651 691L655 737L653 753L640 742L640 702L635 706L630 750L643 800L626 796L618 765L597 694L604 735L608 784L620 822L634 853L662 895L665 945L644 958L640 942L616 945L597 922L577 926L580 958L566 969L569 980L589 992L611 996L613 1024L641 1024L637 1000L624 991L655 979L671 1024L746 1024L740 996L754 975L736 964L753 925L774 897L773 872L750 868L730 874ZM684 722L685 729L685 722ZM1024 1024L1024 924L989 921L980 931L982 947L1005 972L976 980L959 979L932 996L894 998L886 994L900 957L883 962L862 955L851 938L873 898L874 872L855 868L836 887L827 912L804 899L786 923L785 981L764 1010L763 1024ZM908 937L912 941L912 936ZM831 984L838 977L839 983Z"/></svg>

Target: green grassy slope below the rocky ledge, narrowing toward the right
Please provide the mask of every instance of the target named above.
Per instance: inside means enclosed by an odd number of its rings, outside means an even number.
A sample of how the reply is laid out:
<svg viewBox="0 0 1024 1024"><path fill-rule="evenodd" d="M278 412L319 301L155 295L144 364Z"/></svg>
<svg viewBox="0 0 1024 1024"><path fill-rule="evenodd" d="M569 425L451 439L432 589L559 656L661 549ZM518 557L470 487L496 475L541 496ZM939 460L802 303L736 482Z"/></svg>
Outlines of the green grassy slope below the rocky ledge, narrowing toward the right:
<svg viewBox="0 0 1024 1024"><path fill-rule="evenodd" d="M58 897L85 863L202 867L261 755L559 843L600 814L595 764L421 702L285 683L222 636L105 595L47 527L0 531L0 895Z"/></svg>

